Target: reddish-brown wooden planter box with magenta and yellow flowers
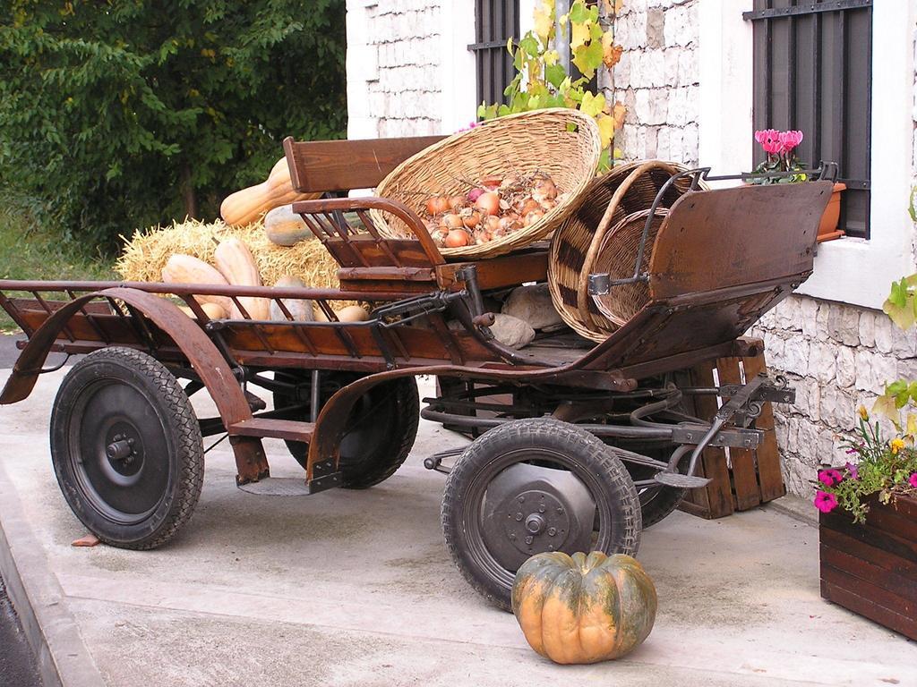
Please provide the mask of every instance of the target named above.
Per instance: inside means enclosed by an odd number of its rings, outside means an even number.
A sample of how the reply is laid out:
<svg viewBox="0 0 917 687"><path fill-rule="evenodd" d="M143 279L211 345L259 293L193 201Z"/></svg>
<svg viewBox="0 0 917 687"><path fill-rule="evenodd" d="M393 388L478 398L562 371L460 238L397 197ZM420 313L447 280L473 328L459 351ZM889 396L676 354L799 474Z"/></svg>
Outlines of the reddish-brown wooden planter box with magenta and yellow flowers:
<svg viewBox="0 0 917 687"><path fill-rule="evenodd" d="M822 514L822 596L917 639L917 499L874 500L863 525L845 512Z"/></svg>

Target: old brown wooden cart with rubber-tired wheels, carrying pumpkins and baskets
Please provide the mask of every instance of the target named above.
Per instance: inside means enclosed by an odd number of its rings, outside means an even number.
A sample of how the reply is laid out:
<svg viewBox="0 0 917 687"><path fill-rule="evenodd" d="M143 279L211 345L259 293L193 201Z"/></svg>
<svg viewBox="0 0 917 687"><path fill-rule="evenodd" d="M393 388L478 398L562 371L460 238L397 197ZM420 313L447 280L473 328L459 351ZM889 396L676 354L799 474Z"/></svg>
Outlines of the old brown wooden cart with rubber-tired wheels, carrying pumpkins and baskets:
<svg viewBox="0 0 917 687"><path fill-rule="evenodd" d="M284 148L299 191L348 191L375 186L430 142L288 139ZM493 338L484 303L545 281L546 246L450 262L398 202L299 202L295 212L340 265L339 290L0 281L0 305L26 335L0 403L28 397L51 351L87 354L51 412L61 491L100 540L150 549L191 516L202 437L228 435L246 491L368 487L412 448L414 377L436 376L425 417L480 435L425 461L447 472L447 545L469 582L508 607L530 555L634 553L644 527L706 484L695 474L705 447L757 446L761 404L790 402L791 389L766 376L696 387L681 371L758 353L742 334L811 273L831 189L823 180L686 194L646 246L650 267L638 278L651 298L630 322L602 344L566 331L521 350ZM401 219L414 238L381 237L371 209ZM597 289L602 282L596 276ZM207 294L232 299L242 317L210 320L198 300ZM274 300L288 321L250 319L247 296ZM293 322L283 299L311 300L329 322ZM331 300L370 303L370 320L337 322ZM254 387L272 395L273 409ZM218 417L195 417L188 397L201 390ZM723 399L713 421L692 416L695 398ZM271 478L265 437L287 442L304 479Z"/></svg>

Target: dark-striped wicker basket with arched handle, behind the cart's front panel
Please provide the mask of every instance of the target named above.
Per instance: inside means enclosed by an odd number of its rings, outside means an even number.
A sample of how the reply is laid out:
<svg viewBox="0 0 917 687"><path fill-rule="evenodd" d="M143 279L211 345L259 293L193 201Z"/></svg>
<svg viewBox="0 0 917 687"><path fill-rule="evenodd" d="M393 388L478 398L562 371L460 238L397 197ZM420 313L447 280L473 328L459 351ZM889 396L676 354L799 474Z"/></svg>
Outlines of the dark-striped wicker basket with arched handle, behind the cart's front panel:
<svg viewBox="0 0 917 687"><path fill-rule="evenodd" d="M547 281L555 308L576 333L603 341L648 300L648 290L640 288L645 285L637 284L614 287L600 306L589 295L589 275L608 271L613 271L613 278L633 275L636 246L646 223L644 211L653 204L663 184L684 169L660 160L616 167L591 182L580 205L555 232L548 254ZM688 177L672 184L659 209L671 207L690 188ZM643 213L642 222L634 220L637 213ZM652 254L658 224L661 223L654 221L654 234L646 243L644 267ZM636 238L631 245L633 233ZM617 239L624 243L617 245ZM602 256L604 252L608 255ZM616 292L621 292L620 302Z"/></svg>

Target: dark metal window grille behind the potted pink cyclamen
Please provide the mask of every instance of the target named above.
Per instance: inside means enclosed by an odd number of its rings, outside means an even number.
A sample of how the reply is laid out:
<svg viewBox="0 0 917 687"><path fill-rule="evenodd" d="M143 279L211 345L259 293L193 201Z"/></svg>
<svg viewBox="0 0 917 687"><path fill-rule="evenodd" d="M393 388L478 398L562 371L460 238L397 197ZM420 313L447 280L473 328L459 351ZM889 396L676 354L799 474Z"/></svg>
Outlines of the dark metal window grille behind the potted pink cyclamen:
<svg viewBox="0 0 917 687"><path fill-rule="evenodd" d="M756 129L801 129L799 157L839 165L841 228L869 236L872 0L755 0ZM755 161L764 159L755 147Z"/></svg>

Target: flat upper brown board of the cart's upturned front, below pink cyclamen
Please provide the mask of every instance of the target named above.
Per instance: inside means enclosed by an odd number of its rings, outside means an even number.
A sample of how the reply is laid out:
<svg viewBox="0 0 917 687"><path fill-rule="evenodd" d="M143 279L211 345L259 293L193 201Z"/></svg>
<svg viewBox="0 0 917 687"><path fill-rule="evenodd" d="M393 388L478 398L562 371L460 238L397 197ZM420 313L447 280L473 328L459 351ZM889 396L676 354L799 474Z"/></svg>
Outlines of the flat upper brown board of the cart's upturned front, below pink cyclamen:
<svg viewBox="0 0 917 687"><path fill-rule="evenodd" d="M650 260L653 300L793 278L812 270L830 181L739 186L682 196Z"/></svg>

